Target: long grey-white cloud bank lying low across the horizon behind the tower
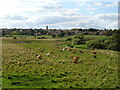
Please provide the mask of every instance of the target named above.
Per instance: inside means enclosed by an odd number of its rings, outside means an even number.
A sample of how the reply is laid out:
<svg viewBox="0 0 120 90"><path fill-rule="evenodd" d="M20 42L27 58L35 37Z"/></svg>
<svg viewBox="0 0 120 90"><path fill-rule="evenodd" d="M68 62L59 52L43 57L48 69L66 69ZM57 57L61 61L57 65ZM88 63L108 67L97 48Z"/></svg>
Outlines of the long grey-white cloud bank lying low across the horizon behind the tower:
<svg viewBox="0 0 120 90"><path fill-rule="evenodd" d="M117 28L115 13L96 14L94 16L75 15L75 16L53 16L31 17L27 20L7 21L6 26L23 28L44 28L48 25L50 28ZM4 23L4 22L3 22ZM5 25L5 24L4 24Z"/></svg>

